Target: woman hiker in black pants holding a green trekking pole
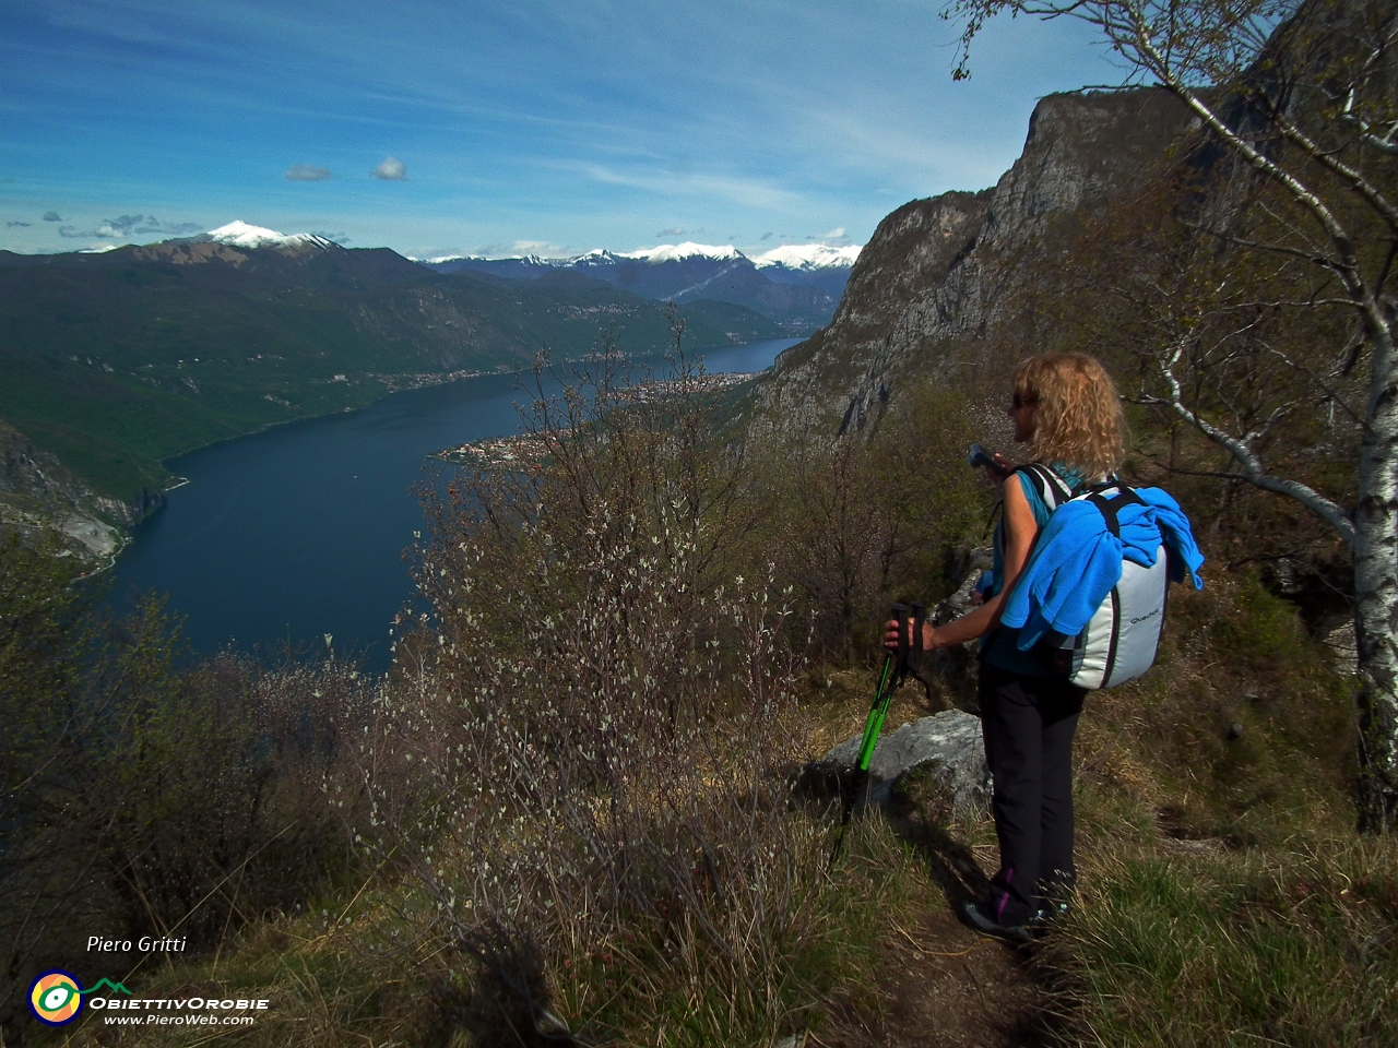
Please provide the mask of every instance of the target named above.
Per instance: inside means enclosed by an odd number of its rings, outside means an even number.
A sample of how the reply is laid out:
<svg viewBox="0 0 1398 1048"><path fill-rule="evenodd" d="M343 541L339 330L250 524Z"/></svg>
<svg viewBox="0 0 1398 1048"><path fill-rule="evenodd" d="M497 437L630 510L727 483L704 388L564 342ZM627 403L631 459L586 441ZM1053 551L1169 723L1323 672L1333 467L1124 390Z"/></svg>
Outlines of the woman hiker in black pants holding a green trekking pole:
<svg viewBox="0 0 1398 1048"><path fill-rule="evenodd" d="M1009 416L1015 443L1053 470L1068 489L1116 474L1127 425L1106 369L1083 354L1043 354L1014 372ZM980 715L994 776L991 805L1000 871L988 898L966 903L960 918L987 935L1028 942L1058 912L1074 885L1072 735L1085 689L1051 675L1000 627L1005 597L1025 569L1050 509L1023 472L1001 489L993 584L974 611L945 626L923 626L923 648L981 637ZM898 622L885 643L898 644Z"/></svg>

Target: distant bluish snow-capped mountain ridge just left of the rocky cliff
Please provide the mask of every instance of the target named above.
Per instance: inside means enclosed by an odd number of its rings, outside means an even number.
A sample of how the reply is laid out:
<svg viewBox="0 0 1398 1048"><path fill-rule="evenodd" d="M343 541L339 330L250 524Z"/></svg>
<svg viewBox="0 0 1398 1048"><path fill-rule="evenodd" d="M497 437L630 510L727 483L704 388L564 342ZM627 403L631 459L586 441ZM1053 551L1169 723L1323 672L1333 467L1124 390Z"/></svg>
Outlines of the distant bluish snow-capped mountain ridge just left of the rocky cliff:
<svg viewBox="0 0 1398 1048"><path fill-rule="evenodd" d="M470 270L506 279L580 272L647 299L747 306L793 334L807 334L835 316L858 253L857 246L788 245L749 259L731 245L686 242L636 252L593 250L572 259L446 257L419 264L438 272Z"/></svg>

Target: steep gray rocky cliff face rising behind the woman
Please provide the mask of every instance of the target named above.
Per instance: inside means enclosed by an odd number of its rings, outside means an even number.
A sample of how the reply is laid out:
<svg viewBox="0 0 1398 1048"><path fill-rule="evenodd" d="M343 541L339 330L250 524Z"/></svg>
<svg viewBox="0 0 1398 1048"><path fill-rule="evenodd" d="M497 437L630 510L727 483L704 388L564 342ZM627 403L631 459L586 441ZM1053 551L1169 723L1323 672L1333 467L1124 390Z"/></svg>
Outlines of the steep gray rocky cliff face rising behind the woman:
<svg viewBox="0 0 1398 1048"><path fill-rule="evenodd" d="M993 190L914 200L879 224L830 326L759 386L759 414L777 429L863 428L909 376L973 366L1009 319L1025 263L1061 224L1132 191L1188 119L1156 89L1042 99Z"/></svg>

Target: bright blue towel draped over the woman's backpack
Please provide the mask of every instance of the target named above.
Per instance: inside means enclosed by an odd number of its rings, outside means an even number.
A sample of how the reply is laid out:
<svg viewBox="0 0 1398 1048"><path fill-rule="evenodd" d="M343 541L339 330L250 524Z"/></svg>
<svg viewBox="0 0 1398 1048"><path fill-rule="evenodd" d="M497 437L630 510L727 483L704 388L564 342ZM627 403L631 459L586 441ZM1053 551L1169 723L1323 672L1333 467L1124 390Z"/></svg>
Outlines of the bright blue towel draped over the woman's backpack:
<svg viewBox="0 0 1398 1048"><path fill-rule="evenodd" d="M1204 587L1204 555L1179 503L1159 488L1137 488L1135 493L1145 504L1117 513L1120 538L1086 500L1064 503L1048 517L1000 619L1019 629L1022 651L1048 632L1078 636L1121 580L1121 560L1151 567L1162 544L1170 555L1170 581L1181 583L1188 574L1195 590Z"/></svg>

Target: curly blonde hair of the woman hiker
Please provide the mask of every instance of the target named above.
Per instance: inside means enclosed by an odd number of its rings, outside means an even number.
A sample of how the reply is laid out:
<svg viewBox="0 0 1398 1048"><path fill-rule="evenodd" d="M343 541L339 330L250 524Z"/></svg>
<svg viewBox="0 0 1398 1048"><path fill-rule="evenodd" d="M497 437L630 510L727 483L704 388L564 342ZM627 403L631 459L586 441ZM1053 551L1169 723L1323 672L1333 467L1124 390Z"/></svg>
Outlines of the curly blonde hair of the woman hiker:
<svg viewBox="0 0 1398 1048"><path fill-rule="evenodd" d="M1015 395L1037 404L1029 454L1040 463L1067 463L1085 476L1110 476L1127 457L1127 419L1117 386L1086 354L1040 354L1021 361Z"/></svg>

